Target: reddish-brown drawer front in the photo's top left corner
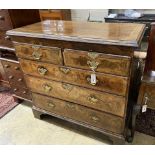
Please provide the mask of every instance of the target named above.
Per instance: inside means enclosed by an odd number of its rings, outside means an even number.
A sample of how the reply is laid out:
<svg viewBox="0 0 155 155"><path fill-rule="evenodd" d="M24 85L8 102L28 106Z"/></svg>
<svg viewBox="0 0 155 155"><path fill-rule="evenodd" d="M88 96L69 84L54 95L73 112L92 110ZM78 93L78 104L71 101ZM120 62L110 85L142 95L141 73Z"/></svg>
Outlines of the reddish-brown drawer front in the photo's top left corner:
<svg viewBox="0 0 155 155"><path fill-rule="evenodd" d="M0 30L12 29L11 19L7 10L0 10Z"/></svg>

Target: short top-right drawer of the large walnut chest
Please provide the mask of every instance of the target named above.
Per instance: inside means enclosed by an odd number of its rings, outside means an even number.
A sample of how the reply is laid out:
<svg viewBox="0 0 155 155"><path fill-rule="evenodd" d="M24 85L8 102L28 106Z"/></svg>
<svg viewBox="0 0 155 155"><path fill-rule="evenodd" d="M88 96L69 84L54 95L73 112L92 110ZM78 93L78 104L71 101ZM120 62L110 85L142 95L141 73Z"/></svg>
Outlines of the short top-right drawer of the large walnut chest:
<svg viewBox="0 0 155 155"><path fill-rule="evenodd" d="M130 57L103 53L65 49L64 64L70 67L82 68L108 74L128 76L130 72Z"/></svg>

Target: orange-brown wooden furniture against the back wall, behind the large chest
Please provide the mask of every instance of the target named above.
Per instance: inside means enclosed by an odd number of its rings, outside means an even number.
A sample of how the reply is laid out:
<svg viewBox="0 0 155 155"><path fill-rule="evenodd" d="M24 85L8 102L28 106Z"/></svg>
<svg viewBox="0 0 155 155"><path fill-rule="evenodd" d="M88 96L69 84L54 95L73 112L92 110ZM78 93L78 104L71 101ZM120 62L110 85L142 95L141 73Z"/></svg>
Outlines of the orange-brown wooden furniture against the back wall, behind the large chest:
<svg viewBox="0 0 155 155"><path fill-rule="evenodd" d="M69 9L48 9L39 10L40 19L43 20L71 20L71 11Z"/></svg>

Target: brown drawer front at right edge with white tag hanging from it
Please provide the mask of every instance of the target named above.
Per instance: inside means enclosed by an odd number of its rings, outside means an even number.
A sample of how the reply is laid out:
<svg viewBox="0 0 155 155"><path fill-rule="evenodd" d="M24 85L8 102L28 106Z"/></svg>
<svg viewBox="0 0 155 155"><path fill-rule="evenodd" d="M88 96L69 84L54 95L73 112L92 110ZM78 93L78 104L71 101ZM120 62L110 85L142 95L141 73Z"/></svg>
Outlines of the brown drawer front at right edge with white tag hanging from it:
<svg viewBox="0 0 155 155"><path fill-rule="evenodd" d="M145 85L145 93L142 103L146 103L149 108L155 109L155 85Z"/></svg>

